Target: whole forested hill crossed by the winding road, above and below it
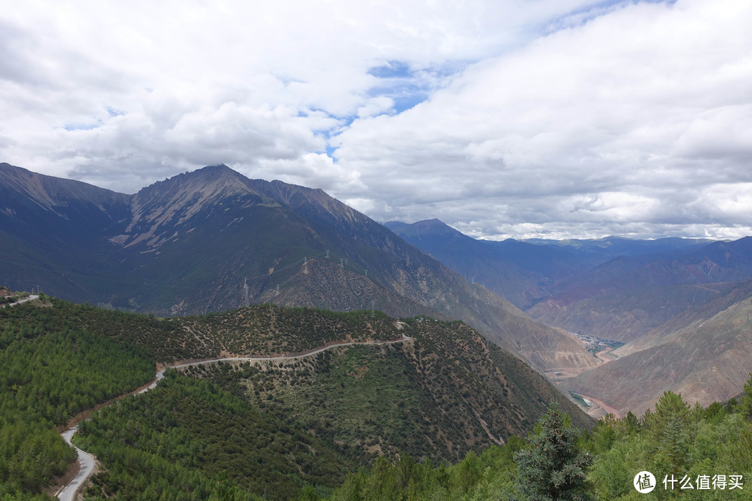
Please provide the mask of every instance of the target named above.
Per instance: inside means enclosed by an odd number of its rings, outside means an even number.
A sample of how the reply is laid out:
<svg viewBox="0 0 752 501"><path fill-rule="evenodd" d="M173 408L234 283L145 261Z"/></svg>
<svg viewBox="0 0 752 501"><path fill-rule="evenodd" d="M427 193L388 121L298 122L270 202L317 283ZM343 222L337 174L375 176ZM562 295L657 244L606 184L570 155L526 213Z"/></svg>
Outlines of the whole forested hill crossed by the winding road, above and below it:
<svg viewBox="0 0 752 501"><path fill-rule="evenodd" d="M59 427L149 382L156 363L399 340L186 370L211 384L168 373L156 390L80 425L74 440L102 461L86 490L95 498L324 495L378 457L448 464L480 454L526 433L552 400L592 426L538 373L458 321L272 305L155 318L43 294L0 310L0 327L4 501L44 498L75 457Z"/></svg>

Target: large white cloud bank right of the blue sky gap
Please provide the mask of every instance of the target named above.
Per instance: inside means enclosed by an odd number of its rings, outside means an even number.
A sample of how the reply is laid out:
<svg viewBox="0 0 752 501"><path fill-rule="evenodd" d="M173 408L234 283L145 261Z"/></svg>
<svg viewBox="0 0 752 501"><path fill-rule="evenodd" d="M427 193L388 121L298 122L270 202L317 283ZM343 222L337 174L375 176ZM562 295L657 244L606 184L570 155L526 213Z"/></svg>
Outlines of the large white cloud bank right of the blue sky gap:
<svg viewBox="0 0 752 501"><path fill-rule="evenodd" d="M529 234L526 223L571 236L723 220L747 231L746 201L715 197L752 176L750 20L744 2L624 5L479 62L399 116L356 120L337 154L398 207L381 219L438 216L492 236ZM432 186L418 193L409 172Z"/></svg>

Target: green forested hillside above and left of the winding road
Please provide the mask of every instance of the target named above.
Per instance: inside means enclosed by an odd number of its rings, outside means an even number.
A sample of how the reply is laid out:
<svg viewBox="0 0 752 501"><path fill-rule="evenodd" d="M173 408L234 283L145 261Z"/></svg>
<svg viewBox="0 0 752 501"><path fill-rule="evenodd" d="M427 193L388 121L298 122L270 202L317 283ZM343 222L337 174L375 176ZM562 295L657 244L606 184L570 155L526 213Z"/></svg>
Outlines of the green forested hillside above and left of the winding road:
<svg viewBox="0 0 752 501"><path fill-rule="evenodd" d="M303 351L332 340L399 337L383 314L259 306L243 315L160 319L42 296L0 309L0 494L22 499L75 460L58 429L132 391L171 362Z"/></svg>

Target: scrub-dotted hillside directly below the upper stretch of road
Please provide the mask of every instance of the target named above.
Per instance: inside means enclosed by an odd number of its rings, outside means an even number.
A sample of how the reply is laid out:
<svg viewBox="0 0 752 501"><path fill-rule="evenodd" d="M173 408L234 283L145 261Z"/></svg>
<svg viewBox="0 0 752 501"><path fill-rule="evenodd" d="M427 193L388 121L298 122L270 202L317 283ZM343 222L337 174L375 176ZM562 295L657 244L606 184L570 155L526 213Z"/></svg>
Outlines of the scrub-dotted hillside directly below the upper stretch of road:
<svg viewBox="0 0 752 501"><path fill-rule="evenodd" d="M551 401L572 412L581 427L592 426L532 369L465 324L412 319L404 330L408 343L185 371L270 414L294 416L360 464L405 452L420 460L456 461L469 450L480 453L526 433Z"/></svg>

